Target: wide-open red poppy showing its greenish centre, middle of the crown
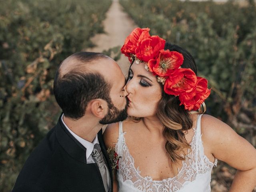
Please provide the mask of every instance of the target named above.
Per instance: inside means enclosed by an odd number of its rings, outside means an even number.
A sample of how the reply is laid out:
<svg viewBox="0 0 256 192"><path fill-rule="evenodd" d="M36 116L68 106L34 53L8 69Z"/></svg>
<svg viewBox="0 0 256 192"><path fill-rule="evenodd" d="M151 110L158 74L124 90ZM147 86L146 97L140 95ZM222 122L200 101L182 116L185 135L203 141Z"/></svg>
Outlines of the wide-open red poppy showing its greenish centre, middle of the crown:
<svg viewBox="0 0 256 192"><path fill-rule="evenodd" d="M170 70L178 69L183 63L183 55L176 51L160 50L160 54L153 63L150 63L150 68L158 76L167 76Z"/></svg>

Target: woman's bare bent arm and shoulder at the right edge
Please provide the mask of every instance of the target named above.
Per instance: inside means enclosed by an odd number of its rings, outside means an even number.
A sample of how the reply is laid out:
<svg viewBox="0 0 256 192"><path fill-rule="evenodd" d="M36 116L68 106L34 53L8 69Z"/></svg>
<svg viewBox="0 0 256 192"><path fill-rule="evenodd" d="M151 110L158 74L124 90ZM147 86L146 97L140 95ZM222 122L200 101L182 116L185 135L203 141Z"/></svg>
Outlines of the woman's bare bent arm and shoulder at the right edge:
<svg viewBox="0 0 256 192"><path fill-rule="evenodd" d="M251 192L256 186L256 149L212 116L202 117L202 134L204 145L213 156L238 170L230 192Z"/></svg>

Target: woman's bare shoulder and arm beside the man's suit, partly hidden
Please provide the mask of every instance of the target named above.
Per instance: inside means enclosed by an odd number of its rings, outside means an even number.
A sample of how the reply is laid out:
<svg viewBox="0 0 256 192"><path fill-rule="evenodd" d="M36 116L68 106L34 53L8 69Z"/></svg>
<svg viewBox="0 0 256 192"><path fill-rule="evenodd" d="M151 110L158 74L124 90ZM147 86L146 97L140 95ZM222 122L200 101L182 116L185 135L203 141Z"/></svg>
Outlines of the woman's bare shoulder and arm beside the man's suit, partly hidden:
<svg viewBox="0 0 256 192"><path fill-rule="evenodd" d="M117 139L118 139L118 130L119 130L118 123L115 123L115 124L109 124L106 130L104 131L103 139L107 149L110 147L115 148L116 146L115 143L117 142ZM114 174L113 174L113 192L118 192L116 170L114 170Z"/></svg>

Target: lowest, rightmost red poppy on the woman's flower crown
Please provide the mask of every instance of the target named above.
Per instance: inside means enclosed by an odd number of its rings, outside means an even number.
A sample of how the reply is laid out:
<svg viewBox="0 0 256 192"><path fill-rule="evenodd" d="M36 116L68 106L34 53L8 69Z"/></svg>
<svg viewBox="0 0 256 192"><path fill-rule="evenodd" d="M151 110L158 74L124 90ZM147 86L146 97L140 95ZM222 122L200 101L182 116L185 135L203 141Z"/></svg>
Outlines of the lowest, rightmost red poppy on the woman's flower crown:
<svg viewBox="0 0 256 192"><path fill-rule="evenodd" d="M184 105L187 110L198 110L200 105L208 98L211 90L207 88L208 81L205 78L197 77L194 90L179 96L180 105Z"/></svg>

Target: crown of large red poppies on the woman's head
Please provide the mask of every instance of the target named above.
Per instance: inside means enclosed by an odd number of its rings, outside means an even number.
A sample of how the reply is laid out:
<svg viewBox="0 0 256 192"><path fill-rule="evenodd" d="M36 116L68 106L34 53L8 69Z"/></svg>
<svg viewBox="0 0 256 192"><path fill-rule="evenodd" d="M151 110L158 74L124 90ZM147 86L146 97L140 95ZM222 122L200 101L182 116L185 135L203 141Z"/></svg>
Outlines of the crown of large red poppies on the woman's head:
<svg viewBox="0 0 256 192"><path fill-rule="evenodd" d="M198 77L190 68L182 68L183 55L176 51L164 50L165 40L150 36L149 28L135 28L121 48L130 63L145 63L145 69L157 76L164 85L164 92L178 96L180 105L186 110L198 110L211 90L208 81Z"/></svg>

